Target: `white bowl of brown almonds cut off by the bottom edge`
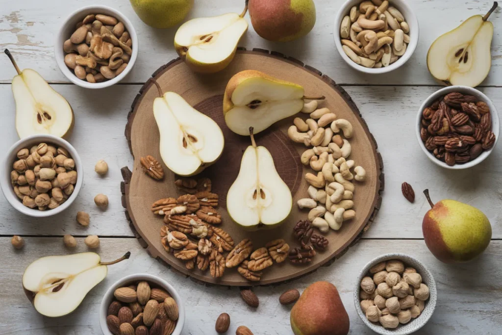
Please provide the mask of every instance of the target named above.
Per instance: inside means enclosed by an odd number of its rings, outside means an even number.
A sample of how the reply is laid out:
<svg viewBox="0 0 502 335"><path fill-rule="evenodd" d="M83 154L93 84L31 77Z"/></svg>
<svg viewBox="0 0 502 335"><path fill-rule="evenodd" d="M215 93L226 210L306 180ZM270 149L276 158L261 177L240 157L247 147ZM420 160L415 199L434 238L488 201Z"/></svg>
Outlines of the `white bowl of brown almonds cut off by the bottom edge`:
<svg viewBox="0 0 502 335"><path fill-rule="evenodd" d="M134 274L110 286L99 311L104 335L180 335L185 307L165 280Z"/></svg>

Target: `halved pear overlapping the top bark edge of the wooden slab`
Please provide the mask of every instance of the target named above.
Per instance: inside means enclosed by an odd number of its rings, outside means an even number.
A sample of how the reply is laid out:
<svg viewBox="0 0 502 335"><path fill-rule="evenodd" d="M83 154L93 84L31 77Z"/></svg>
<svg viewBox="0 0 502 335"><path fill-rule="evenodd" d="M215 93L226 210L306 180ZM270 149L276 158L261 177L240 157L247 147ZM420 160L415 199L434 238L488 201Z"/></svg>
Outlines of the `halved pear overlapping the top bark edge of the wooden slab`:
<svg viewBox="0 0 502 335"><path fill-rule="evenodd" d="M196 72L214 73L233 59L237 43L247 31L242 14L227 13L185 22L174 36L174 47L186 64Z"/></svg>

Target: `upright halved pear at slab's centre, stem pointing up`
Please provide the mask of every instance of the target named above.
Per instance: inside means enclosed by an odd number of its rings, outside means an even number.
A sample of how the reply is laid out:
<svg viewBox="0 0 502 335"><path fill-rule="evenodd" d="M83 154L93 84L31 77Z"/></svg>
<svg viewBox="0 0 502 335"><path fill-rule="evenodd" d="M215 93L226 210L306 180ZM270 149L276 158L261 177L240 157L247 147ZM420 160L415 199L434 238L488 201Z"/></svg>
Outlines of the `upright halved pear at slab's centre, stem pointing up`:
<svg viewBox="0 0 502 335"><path fill-rule="evenodd" d="M237 179L228 190L228 215L245 230L271 229L284 222L291 212L293 197L277 173L272 155L257 147L253 128L252 145L242 155Z"/></svg>

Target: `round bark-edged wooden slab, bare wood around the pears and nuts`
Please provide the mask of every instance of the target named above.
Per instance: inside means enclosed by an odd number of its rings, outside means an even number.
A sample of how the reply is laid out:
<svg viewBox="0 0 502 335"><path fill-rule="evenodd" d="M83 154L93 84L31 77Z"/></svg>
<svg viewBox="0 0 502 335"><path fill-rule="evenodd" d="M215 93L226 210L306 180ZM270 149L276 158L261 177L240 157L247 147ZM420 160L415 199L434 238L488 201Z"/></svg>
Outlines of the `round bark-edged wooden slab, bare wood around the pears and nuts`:
<svg viewBox="0 0 502 335"><path fill-rule="evenodd" d="M254 247L264 247L273 239L282 238L291 248L298 242L293 234L293 227L300 219L306 219L308 211L300 211L296 201L308 197L308 184L304 179L310 167L300 162L300 155L306 150L304 145L293 143L287 137L287 129L292 125L293 118L282 120L266 131L255 136L258 145L265 146L271 152L277 171L288 184L293 194L293 210L287 221L274 230L246 232L241 230L228 216L225 209L225 198L228 188L235 180L240 166L242 153L250 145L249 137L232 133L225 125L222 100L228 80L237 72L255 69L274 77L295 82L305 87L305 95L325 95L326 100L320 106L328 107L338 118L347 119L354 128L354 137L350 139L352 154L350 159L366 169L366 181L355 182L354 210L356 218L344 222L338 232L330 231L324 236L329 240L328 249L317 252L313 262L305 265L293 265L289 261L274 264L266 269L260 282L249 282L241 277L236 268L226 269L220 279L210 276L209 270L201 272L198 269L187 270L180 260L166 253L160 242L160 229L164 225L162 216L151 212L152 203L160 198L177 197L183 193L174 186L177 177L164 166L166 177L156 181L148 177L141 169L140 158L147 155L156 157L162 163L159 153L159 130L155 122L152 106L153 100L159 96L152 79L147 81L136 96L128 116L126 138L135 157L133 172L122 169L122 204L126 208L126 216L131 221L131 227L137 232L140 243L150 255L165 263L177 272L190 276L195 281L230 286L268 285L282 283L299 278L315 271L320 266L330 265L336 258L347 251L349 246L359 240L369 228L374 216L380 208L380 196L384 186L383 163L376 151L376 142L369 133L366 123L348 94L336 85L326 75L316 69L304 66L302 62L286 58L282 54L269 54L266 50L238 50L233 62L223 71L211 75L200 75L192 72L183 61L175 59L157 70L152 77L161 85L163 91L174 91L194 106L201 113L211 117L223 131L225 149L221 158L199 176L212 180L212 192L217 193L223 223L220 226L230 234L235 244L244 238L251 239ZM300 116L300 115L299 115ZM301 115L305 119L308 115ZM317 232L317 234L320 234Z"/></svg>

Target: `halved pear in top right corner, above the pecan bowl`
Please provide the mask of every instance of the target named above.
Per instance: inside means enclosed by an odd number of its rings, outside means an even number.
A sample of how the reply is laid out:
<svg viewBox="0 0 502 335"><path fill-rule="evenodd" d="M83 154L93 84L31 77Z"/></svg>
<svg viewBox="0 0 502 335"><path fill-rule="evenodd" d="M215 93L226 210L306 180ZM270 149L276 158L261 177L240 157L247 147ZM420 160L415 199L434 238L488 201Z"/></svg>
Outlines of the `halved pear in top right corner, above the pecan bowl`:
<svg viewBox="0 0 502 335"><path fill-rule="evenodd" d="M475 15L452 31L438 37L427 54L432 76L444 84L475 87L491 67L490 45L493 24L487 21L497 7L494 3L484 17Z"/></svg>

